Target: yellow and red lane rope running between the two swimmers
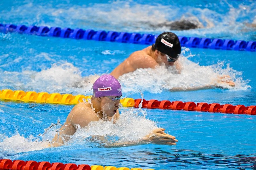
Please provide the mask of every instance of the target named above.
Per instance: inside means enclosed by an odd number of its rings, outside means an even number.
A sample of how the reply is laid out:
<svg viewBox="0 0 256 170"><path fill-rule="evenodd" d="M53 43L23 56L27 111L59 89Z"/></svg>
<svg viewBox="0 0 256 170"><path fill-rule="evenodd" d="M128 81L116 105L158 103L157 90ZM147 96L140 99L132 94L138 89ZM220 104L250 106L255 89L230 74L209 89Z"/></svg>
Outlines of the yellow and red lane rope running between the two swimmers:
<svg viewBox="0 0 256 170"><path fill-rule="evenodd" d="M36 102L36 103L50 103L50 104L70 104L75 105L79 101L91 99L92 96L76 95L72 94L60 94L60 93L47 93L47 92L24 92L22 90L12 91L10 89L0 90L1 100L13 100L23 102ZM142 101L142 103L141 103ZM185 110L185 111L200 111L200 112L219 112L227 114L247 114L256 115L256 106L244 106L231 104L220 105L219 103L195 103L195 102L182 102L182 101L169 101L169 100L145 100L145 99L132 99L124 98L120 99L120 103L124 107L138 108L140 103L142 108L148 109L170 109L170 110Z"/></svg>

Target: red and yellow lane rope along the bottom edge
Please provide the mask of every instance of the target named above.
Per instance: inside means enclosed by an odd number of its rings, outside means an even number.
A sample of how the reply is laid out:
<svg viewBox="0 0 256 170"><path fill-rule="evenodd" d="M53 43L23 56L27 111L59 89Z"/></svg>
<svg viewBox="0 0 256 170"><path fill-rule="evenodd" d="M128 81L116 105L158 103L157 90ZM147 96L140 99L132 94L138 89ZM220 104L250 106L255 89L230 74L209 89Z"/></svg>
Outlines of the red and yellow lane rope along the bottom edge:
<svg viewBox="0 0 256 170"><path fill-rule="evenodd" d="M100 166L87 164L63 164L60 162L50 163L46 161L23 161L23 160L10 160L0 159L0 170L130 170L128 167L115 167L115 166ZM141 168L131 168L131 170L143 170ZM154 169L144 169L154 170Z"/></svg>

